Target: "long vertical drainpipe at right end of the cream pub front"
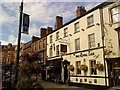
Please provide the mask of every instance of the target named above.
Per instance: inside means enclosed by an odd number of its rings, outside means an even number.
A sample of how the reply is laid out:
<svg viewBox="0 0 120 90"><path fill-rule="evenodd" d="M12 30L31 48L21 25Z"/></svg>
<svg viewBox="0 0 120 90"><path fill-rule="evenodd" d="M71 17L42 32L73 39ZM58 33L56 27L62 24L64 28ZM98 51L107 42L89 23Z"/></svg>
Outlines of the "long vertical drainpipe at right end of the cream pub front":
<svg viewBox="0 0 120 90"><path fill-rule="evenodd" d="M105 44L104 44L104 20L103 20L103 7L100 8L100 23L101 23L101 34L102 34L102 44L103 44L103 58L104 58L104 69L105 69L105 85L107 86L107 74L106 74L106 58L105 58Z"/></svg>

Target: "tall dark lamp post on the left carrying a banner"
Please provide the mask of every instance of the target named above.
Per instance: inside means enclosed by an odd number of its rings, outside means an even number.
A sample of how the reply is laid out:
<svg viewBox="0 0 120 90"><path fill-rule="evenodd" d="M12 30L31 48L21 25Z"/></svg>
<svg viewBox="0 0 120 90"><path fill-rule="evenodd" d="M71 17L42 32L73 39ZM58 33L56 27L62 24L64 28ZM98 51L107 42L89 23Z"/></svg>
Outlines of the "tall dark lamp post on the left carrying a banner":
<svg viewBox="0 0 120 90"><path fill-rule="evenodd" d="M23 0L21 2L21 6L20 6L20 19L19 19L19 32L18 32L15 84L17 84L17 82L18 82L18 66L19 66L19 52L20 52L20 40L21 40L22 14L23 14Z"/></svg>

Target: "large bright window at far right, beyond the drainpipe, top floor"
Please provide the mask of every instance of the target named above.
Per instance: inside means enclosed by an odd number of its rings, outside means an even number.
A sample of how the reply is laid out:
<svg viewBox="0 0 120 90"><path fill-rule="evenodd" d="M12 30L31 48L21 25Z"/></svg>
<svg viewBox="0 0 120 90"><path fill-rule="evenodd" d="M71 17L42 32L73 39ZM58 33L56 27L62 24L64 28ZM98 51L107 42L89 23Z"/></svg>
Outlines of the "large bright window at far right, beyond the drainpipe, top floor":
<svg viewBox="0 0 120 90"><path fill-rule="evenodd" d="M120 21L120 6L111 9L111 17L113 23Z"/></svg>

